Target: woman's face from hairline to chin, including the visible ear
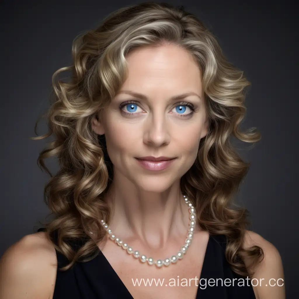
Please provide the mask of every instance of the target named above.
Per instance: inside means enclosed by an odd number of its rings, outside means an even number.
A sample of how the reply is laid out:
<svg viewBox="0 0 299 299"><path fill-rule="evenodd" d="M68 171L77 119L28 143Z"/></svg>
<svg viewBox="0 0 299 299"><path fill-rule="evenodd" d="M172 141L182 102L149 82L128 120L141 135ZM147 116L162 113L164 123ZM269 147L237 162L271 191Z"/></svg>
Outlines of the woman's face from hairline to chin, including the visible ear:
<svg viewBox="0 0 299 299"><path fill-rule="evenodd" d="M176 45L136 49L126 59L128 78L92 127L105 134L117 177L162 192L190 169L207 134L202 74L191 54ZM147 156L174 159L138 160Z"/></svg>

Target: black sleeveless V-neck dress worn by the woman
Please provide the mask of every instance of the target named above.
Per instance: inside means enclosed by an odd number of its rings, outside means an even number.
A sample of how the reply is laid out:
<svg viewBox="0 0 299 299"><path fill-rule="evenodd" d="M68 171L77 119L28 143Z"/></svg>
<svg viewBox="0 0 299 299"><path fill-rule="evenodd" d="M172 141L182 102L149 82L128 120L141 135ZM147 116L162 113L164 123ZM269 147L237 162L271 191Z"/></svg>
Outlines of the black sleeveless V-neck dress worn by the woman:
<svg viewBox="0 0 299 299"><path fill-rule="evenodd" d="M45 229L40 228L38 231ZM210 235L201 280L196 282L198 284L196 299L256 299L251 281L231 270L225 259L225 247L224 235ZM58 251L56 254L58 268L68 263L63 254ZM221 280L218 280L216 286L217 278L222 279L222 285ZM89 262L77 262L67 271L57 269L53 299L66 298L134 299L101 251Z"/></svg>

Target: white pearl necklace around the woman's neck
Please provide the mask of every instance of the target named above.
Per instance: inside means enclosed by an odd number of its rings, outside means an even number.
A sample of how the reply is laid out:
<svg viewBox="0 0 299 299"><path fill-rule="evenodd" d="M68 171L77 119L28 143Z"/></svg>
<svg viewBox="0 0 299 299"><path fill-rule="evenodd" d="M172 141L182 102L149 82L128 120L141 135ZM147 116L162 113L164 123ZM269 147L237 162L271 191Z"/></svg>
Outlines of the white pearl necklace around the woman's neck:
<svg viewBox="0 0 299 299"><path fill-rule="evenodd" d="M101 220L101 224L104 227L104 229L107 231L109 238L111 240L114 240L117 245L119 245L121 248L127 251L128 254L133 254L133 256L136 259L140 259L142 263L148 263L149 265L155 264L158 268L161 266L169 266L171 263L175 264L178 260L181 260L184 256L184 254L187 252L187 249L189 248L192 239L193 239L193 232L195 230L196 225L196 213L195 208L193 207L192 203L187 199L186 196L184 196L184 202L189 207L189 213L190 213L190 222L189 222L189 229L187 238L185 240L184 245L181 247L181 250L177 252L176 255L173 255L171 258L166 258L164 260L157 260L154 261L152 257L146 257L144 254L140 254L138 250L133 250L132 247L130 247L127 243L124 243L120 238L116 237L115 234L112 233L109 226L104 222L104 220Z"/></svg>

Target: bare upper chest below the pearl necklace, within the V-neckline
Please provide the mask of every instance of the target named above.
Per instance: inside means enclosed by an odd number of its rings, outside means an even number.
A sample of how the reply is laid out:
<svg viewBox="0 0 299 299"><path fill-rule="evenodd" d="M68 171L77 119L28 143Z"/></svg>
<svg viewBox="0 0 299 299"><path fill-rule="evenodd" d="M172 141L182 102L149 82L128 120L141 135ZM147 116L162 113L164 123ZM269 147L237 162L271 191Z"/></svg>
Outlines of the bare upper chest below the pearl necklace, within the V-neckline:
<svg viewBox="0 0 299 299"><path fill-rule="evenodd" d="M182 260L161 268L141 263L113 242L102 253L116 274L115 284L123 283L134 299L196 298L208 240L208 233L199 234Z"/></svg>

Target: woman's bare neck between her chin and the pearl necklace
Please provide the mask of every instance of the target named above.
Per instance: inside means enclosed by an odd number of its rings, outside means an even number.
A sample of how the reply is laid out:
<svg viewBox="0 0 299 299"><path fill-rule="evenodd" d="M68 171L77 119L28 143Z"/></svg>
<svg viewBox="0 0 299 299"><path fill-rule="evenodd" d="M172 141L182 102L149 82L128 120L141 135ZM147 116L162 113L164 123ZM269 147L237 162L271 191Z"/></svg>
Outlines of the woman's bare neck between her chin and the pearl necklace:
<svg viewBox="0 0 299 299"><path fill-rule="evenodd" d="M157 249L186 234L189 212L179 181L162 192L149 192L115 176L105 201L113 207L109 227L121 239Z"/></svg>

